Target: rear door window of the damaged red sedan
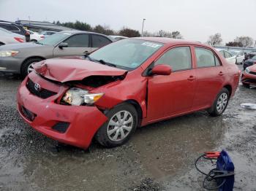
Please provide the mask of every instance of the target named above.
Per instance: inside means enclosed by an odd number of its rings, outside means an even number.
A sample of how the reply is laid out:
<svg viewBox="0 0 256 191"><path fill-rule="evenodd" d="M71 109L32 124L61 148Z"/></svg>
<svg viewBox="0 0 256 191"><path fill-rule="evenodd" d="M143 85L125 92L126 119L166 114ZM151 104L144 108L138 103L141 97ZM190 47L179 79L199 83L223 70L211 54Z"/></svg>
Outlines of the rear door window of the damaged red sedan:
<svg viewBox="0 0 256 191"><path fill-rule="evenodd" d="M214 52L202 47L195 47L197 68L215 66Z"/></svg>

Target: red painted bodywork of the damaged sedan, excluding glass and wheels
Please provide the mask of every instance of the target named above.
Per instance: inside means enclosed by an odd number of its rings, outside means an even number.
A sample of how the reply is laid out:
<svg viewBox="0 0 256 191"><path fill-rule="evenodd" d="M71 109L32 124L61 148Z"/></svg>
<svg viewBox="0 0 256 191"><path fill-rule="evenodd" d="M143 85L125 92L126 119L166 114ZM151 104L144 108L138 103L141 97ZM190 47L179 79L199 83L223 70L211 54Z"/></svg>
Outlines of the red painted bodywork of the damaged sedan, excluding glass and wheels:
<svg viewBox="0 0 256 191"><path fill-rule="evenodd" d="M137 104L141 113L140 126L169 119L200 109L208 109L222 90L227 87L231 96L236 92L239 71L212 47L197 42L178 39L137 38L165 45L151 55L133 71L125 71L78 58L55 58L37 63L32 72L18 89L18 110L21 117L34 129L52 139L87 148L97 130L108 118L104 111L124 101ZM168 76L144 76L143 72L165 51L178 46L189 46L192 53L192 69L172 72ZM221 66L197 69L194 47L204 47L214 52ZM69 86L63 82L79 81L91 76L122 76L124 79L89 89L90 93L104 93L94 106L66 106L59 100ZM39 98L29 92L26 83L30 79L42 88L56 92L49 98ZM50 80L53 80L50 81ZM54 82L56 81L56 82ZM82 85L83 87L83 85ZM34 121L28 120L21 107L36 114ZM56 132L52 127L57 122L69 122L65 133Z"/></svg>

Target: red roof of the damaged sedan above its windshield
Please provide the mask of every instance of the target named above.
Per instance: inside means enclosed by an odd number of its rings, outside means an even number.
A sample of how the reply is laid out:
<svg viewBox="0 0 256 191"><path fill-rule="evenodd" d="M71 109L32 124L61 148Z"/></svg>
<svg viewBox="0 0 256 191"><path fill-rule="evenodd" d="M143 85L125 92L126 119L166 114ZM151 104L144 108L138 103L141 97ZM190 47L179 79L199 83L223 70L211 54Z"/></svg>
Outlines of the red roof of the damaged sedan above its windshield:
<svg viewBox="0 0 256 191"><path fill-rule="evenodd" d="M210 47L206 44L202 44L200 42L195 41L188 41L185 39L171 39L171 38L165 38L165 37L135 37L132 39L140 39L140 40L146 40L146 41L152 41L152 42L159 42L162 44L194 44L194 45L200 45L204 47ZM211 47L212 48L212 47Z"/></svg>

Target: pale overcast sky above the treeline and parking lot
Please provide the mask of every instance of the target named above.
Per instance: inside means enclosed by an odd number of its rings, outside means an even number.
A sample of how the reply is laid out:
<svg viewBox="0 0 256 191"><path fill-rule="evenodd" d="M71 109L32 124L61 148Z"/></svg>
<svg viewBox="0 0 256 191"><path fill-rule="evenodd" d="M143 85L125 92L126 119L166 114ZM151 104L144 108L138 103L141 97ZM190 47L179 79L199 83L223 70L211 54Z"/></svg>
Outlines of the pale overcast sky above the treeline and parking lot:
<svg viewBox="0 0 256 191"><path fill-rule="evenodd" d="M208 36L222 34L224 42L236 36L256 40L255 0L0 0L0 20L75 20L123 26L141 32L180 31L184 39L206 42Z"/></svg>

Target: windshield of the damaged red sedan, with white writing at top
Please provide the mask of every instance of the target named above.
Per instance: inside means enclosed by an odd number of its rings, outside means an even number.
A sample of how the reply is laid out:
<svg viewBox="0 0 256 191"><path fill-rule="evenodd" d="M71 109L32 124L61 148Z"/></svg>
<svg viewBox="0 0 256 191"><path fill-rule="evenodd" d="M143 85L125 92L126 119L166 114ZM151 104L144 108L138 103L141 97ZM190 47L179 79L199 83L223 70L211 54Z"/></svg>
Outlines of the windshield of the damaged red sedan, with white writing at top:
<svg viewBox="0 0 256 191"><path fill-rule="evenodd" d="M90 59L112 63L116 67L135 69L162 46L159 42L124 39L92 52Z"/></svg>

